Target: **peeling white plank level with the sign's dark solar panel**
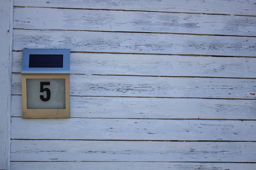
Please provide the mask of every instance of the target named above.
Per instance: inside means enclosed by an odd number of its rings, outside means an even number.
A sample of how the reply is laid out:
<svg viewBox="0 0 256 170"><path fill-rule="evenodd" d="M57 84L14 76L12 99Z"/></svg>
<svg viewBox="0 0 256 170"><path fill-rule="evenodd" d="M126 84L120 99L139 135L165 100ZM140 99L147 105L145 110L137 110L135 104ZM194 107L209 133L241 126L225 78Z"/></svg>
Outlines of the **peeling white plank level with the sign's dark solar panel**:
<svg viewBox="0 0 256 170"><path fill-rule="evenodd" d="M70 53L70 72L85 74L256 78L256 58ZM13 52L21 72L22 52Z"/></svg>

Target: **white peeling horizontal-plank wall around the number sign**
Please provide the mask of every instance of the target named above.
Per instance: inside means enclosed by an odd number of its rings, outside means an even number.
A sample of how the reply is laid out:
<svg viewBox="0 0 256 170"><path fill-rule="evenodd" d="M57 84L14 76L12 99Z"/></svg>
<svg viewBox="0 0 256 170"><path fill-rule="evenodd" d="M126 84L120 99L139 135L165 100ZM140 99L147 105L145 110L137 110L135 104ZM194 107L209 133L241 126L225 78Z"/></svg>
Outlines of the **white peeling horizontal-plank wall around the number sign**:
<svg viewBox="0 0 256 170"><path fill-rule="evenodd" d="M24 48L71 49L71 119L22 119ZM11 170L255 170L256 0L14 0Z"/></svg>

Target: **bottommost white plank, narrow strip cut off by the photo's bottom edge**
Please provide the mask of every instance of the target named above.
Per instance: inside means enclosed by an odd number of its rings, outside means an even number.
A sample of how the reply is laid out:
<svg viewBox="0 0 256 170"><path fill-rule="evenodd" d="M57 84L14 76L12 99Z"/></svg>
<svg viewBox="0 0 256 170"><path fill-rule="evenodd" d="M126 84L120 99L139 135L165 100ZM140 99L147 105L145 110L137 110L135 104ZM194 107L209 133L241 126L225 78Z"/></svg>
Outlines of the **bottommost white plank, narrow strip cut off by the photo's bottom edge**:
<svg viewBox="0 0 256 170"><path fill-rule="evenodd" d="M253 163L11 162L12 170L255 170Z"/></svg>

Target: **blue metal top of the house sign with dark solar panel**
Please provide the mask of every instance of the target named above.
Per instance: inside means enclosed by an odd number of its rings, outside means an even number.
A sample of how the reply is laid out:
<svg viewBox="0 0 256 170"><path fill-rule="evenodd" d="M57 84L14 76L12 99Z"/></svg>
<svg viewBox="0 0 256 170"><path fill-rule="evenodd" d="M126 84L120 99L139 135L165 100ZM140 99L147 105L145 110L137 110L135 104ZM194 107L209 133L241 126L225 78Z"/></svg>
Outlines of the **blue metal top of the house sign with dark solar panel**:
<svg viewBox="0 0 256 170"><path fill-rule="evenodd" d="M21 73L70 73L69 49L23 49Z"/></svg>

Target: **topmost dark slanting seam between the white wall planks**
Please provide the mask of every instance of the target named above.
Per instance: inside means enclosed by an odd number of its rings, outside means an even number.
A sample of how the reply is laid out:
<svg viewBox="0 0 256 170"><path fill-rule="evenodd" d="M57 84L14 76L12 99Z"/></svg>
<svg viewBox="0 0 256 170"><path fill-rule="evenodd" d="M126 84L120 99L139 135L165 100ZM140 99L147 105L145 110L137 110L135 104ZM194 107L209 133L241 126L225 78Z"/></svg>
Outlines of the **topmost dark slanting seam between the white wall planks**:
<svg viewBox="0 0 256 170"><path fill-rule="evenodd" d="M221 16L242 16L242 17L256 17L256 15L245 14L218 14L218 13L196 13L196 12L174 12L174 11L150 11L150 10L132 10L132 9L106 9L106 8L75 8L75 7L50 7L50 6L23 6L14 5L14 8L54 8L54 9L76 9L76 10L100 10L100 11L130 11L130 12L152 12L152 13L177 13L177 14L203 14L203 15L221 15Z"/></svg>

